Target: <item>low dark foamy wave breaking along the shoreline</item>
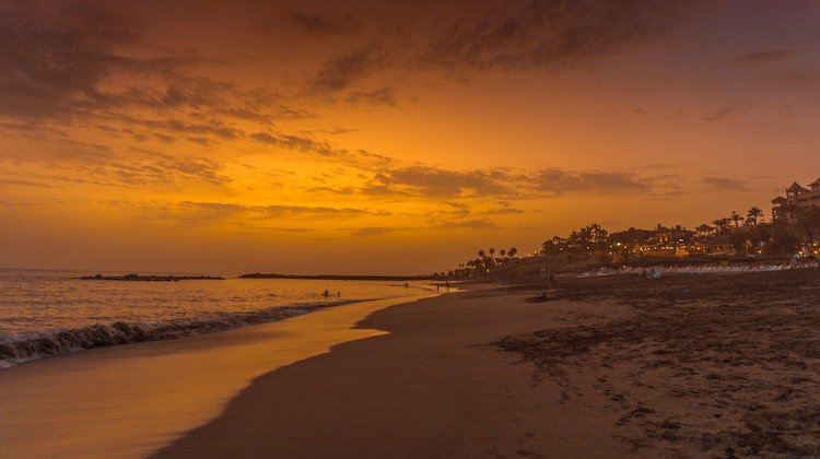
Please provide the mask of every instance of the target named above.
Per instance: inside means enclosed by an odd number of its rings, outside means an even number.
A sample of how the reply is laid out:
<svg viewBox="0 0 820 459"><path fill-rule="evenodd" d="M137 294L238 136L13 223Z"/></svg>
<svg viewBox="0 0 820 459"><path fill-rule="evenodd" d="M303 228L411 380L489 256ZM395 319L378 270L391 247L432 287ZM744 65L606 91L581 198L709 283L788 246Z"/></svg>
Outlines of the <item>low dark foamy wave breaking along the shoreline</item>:
<svg viewBox="0 0 820 459"><path fill-rule="evenodd" d="M0 341L0 368L40 357L68 354L87 349L145 341L173 340L254 323L273 322L307 314L316 309L366 301L368 299L302 304L248 313L218 313L202 319L172 321L160 325L128 323L124 321L109 325L95 323L70 330L17 337L10 341Z"/></svg>

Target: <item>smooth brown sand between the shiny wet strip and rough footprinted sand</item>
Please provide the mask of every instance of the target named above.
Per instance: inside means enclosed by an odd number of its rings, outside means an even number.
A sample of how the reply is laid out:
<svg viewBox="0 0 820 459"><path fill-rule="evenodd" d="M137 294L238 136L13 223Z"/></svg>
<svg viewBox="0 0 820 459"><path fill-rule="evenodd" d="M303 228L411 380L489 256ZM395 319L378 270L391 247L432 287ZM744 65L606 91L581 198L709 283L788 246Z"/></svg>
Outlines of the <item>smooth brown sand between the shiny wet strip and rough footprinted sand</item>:
<svg viewBox="0 0 820 459"><path fill-rule="evenodd" d="M594 305L458 293L390 307L387 330L257 378L156 457L611 457L618 420L563 403L557 384L490 343Z"/></svg>

